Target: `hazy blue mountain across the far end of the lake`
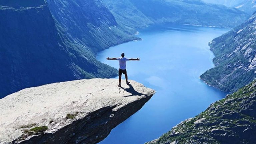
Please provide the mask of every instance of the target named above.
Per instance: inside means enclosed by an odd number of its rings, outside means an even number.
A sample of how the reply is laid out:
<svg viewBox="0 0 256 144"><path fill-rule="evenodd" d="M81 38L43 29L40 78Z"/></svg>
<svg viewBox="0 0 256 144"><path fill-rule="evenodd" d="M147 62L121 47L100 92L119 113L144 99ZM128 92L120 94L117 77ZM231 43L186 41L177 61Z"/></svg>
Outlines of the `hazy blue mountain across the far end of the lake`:
<svg viewBox="0 0 256 144"><path fill-rule="evenodd" d="M200 0L104 0L104 3L118 23L125 23L129 27L178 23L231 28L249 17L235 8ZM136 20L136 17L141 19Z"/></svg>

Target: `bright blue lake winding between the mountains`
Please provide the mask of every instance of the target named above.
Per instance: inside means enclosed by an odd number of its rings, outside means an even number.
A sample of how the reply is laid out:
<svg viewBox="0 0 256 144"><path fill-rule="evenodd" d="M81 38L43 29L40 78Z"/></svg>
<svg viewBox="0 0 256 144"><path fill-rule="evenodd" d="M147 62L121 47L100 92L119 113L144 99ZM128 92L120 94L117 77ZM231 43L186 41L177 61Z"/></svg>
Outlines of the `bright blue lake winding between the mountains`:
<svg viewBox="0 0 256 144"><path fill-rule="evenodd" d="M207 86L199 76L214 67L208 42L227 31L185 25L152 26L139 30L137 36L142 41L98 53L99 61L115 68L118 61L106 57L120 57L124 52L127 58L141 58L127 62L128 78L157 91L141 110L99 144L143 144L224 98L226 93Z"/></svg>

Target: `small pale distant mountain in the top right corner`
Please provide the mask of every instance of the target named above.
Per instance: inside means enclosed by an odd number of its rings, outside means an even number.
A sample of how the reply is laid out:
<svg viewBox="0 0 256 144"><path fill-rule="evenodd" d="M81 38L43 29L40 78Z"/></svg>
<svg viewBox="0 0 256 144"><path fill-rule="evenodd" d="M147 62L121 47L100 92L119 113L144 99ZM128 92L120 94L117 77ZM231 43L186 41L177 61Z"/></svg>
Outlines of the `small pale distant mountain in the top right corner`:
<svg viewBox="0 0 256 144"><path fill-rule="evenodd" d="M234 7L251 15L256 11L256 0L244 0Z"/></svg>

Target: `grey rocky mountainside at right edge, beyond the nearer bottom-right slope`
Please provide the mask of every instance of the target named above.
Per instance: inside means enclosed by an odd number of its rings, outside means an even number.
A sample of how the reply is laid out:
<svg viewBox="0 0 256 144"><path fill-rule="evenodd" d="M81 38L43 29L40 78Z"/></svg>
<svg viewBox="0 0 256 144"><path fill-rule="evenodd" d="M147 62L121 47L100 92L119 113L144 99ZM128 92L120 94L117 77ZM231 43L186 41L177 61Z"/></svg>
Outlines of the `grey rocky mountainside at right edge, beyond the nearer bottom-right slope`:
<svg viewBox="0 0 256 144"><path fill-rule="evenodd" d="M209 43L215 67L200 77L207 84L234 92L256 78L256 13Z"/></svg>

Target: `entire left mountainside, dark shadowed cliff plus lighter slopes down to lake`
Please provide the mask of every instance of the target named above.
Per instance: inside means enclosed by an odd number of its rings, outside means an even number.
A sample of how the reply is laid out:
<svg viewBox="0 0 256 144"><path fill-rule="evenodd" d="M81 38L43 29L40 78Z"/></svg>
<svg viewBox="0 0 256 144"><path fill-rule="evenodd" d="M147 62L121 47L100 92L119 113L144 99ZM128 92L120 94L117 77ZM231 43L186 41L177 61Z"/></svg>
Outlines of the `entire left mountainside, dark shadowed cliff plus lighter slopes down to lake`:
<svg viewBox="0 0 256 144"><path fill-rule="evenodd" d="M0 19L0 98L53 82L114 77L117 70L95 53L138 39L98 0L0 0Z"/></svg>

